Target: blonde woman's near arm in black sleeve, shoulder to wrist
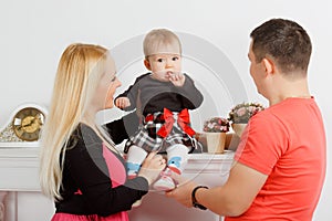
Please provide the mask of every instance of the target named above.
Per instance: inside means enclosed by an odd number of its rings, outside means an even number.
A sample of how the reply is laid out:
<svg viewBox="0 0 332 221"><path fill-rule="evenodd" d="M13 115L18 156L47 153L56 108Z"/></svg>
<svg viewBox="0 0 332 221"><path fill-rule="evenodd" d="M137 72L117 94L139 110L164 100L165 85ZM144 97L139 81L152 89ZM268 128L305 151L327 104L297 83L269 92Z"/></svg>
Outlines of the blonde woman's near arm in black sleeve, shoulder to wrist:
<svg viewBox="0 0 332 221"><path fill-rule="evenodd" d="M114 162L111 161L111 164ZM122 162L120 164L124 167ZM118 166L118 162L114 165ZM89 128L82 133L75 147L66 151L64 172L70 175L70 186L75 186L81 190L84 201L89 203L89 209L100 215L129 210L132 204L148 190L148 180L143 177L127 180L115 188L112 187L112 177L103 156L103 143ZM125 168L123 172L126 177ZM64 186L64 188L69 187Z"/></svg>

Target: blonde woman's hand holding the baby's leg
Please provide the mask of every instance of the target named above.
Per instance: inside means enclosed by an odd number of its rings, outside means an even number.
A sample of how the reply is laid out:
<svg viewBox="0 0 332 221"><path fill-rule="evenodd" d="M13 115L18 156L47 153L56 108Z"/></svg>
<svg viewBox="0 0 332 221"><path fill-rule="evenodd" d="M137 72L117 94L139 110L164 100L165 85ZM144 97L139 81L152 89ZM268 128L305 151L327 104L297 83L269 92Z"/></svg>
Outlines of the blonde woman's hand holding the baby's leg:
<svg viewBox="0 0 332 221"><path fill-rule="evenodd" d="M165 167L166 160L162 157L162 155L151 152L143 161L138 176L146 178L148 185L152 185L156 181Z"/></svg>

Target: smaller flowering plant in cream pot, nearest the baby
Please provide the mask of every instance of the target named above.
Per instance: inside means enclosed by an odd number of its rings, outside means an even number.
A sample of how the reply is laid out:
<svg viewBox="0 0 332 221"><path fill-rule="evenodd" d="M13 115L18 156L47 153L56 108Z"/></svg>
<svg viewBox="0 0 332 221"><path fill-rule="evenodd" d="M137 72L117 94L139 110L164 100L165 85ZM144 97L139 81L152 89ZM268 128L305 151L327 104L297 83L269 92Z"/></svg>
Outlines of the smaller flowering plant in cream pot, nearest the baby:
<svg viewBox="0 0 332 221"><path fill-rule="evenodd" d="M229 131L229 120L224 117L211 117L204 122L207 151L222 154L225 149L226 133Z"/></svg>

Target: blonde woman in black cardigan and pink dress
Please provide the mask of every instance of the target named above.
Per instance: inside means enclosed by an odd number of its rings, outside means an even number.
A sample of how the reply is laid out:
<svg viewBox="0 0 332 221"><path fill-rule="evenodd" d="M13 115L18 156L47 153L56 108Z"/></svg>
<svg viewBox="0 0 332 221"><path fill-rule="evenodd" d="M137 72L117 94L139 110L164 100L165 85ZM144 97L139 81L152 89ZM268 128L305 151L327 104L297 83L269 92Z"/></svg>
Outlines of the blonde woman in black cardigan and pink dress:
<svg viewBox="0 0 332 221"><path fill-rule="evenodd" d="M128 220L126 210L165 168L162 156L152 152L137 178L127 179L122 155L96 126L96 113L113 107L118 86L106 49L72 44L63 52L43 127L40 165L42 191L55 201L52 221Z"/></svg>

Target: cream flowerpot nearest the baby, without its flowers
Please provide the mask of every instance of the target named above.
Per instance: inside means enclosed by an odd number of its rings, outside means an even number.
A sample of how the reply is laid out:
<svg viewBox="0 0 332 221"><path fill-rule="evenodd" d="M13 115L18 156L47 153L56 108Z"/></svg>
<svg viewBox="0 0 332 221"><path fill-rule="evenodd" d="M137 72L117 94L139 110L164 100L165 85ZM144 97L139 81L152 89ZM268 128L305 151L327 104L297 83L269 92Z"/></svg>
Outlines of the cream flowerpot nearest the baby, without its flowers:
<svg viewBox="0 0 332 221"><path fill-rule="evenodd" d="M226 133L206 133L207 151L222 154L225 150Z"/></svg>

